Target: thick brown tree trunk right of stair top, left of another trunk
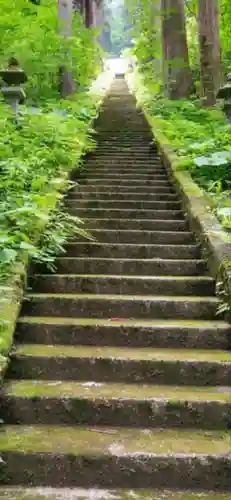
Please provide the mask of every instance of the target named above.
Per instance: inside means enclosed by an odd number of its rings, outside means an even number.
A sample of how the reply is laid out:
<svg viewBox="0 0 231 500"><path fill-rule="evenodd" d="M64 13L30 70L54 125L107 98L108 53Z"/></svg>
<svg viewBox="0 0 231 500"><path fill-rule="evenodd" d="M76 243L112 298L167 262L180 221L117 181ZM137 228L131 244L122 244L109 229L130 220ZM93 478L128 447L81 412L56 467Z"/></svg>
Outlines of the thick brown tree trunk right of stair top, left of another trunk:
<svg viewBox="0 0 231 500"><path fill-rule="evenodd" d="M194 90L189 65L184 0L162 0L164 81L170 99L188 97Z"/></svg>

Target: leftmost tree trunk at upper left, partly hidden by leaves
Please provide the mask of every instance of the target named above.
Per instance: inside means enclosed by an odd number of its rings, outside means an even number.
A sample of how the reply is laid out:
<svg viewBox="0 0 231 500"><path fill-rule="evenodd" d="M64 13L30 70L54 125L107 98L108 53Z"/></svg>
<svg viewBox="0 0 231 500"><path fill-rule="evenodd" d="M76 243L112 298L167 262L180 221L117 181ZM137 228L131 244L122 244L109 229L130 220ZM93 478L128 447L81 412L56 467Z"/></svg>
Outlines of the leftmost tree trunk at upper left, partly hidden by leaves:
<svg viewBox="0 0 231 500"><path fill-rule="evenodd" d="M72 12L73 0L58 0L61 33L64 38L72 36ZM67 67L61 66L59 70L61 97L67 97L75 92L75 83L71 72L71 55L65 54L65 58L68 61Z"/></svg>

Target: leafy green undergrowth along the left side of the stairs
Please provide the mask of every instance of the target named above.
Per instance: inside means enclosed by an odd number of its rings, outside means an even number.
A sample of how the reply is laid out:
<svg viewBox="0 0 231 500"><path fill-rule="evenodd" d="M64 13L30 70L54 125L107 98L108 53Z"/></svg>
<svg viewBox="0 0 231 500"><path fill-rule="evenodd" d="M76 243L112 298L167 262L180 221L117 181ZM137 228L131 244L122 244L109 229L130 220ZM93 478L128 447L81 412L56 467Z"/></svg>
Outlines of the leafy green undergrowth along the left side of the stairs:
<svg viewBox="0 0 231 500"><path fill-rule="evenodd" d="M56 203L70 185L67 173L94 146L88 132L95 115L94 102L81 95L78 101L65 101L60 107L57 103L55 111L34 113L24 107L20 128L15 128L10 112L7 114L5 105L0 105L0 152L4 158L0 162L2 281L28 257L51 263L71 230L83 234L81 221Z"/></svg>

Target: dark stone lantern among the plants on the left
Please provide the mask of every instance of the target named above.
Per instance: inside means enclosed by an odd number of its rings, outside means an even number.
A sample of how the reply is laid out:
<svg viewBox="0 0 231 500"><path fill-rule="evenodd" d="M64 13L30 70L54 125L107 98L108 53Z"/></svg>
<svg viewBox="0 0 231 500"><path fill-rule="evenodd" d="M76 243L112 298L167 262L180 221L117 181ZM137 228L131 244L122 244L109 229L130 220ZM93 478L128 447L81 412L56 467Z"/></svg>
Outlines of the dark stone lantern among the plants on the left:
<svg viewBox="0 0 231 500"><path fill-rule="evenodd" d="M5 86L1 87L2 94L16 113L18 105L22 104L26 98L21 85L27 81L27 76L20 68L17 59L11 57L8 68L0 70L0 77L5 83Z"/></svg>

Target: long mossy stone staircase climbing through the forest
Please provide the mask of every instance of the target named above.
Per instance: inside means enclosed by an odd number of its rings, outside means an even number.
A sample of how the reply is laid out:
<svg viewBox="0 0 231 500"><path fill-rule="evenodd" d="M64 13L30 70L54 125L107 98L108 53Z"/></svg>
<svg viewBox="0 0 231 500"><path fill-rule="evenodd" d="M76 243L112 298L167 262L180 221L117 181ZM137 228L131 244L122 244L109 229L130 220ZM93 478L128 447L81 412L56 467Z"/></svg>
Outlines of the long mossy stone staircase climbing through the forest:
<svg viewBox="0 0 231 500"><path fill-rule="evenodd" d="M67 200L95 240L33 276L19 318L0 499L231 499L230 325L214 279L122 78L97 130Z"/></svg>

